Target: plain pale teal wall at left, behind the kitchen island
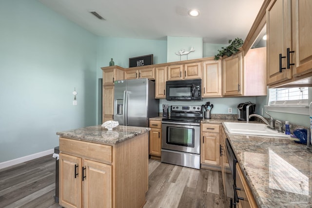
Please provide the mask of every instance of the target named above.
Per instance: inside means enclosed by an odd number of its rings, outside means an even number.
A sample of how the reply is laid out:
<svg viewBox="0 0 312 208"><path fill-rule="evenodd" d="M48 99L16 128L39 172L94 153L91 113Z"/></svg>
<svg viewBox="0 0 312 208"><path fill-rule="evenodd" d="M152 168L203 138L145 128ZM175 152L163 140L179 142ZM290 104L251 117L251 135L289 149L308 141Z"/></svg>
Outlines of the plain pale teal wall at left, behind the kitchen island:
<svg viewBox="0 0 312 208"><path fill-rule="evenodd" d="M96 36L36 0L0 0L0 28L0 162L95 125Z"/></svg>

